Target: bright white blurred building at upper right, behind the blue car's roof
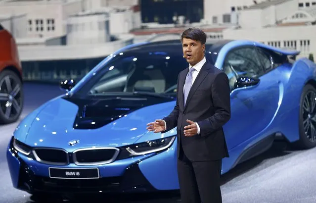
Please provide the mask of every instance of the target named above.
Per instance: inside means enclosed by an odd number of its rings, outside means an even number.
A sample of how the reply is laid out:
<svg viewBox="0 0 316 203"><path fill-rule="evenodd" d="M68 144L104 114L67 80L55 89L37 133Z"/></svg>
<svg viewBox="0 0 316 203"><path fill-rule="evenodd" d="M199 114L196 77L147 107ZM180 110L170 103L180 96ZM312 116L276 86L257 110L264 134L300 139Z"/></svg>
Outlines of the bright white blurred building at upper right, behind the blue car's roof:
<svg viewBox="0 0 316 203"><path fill-rule="evenodd" d="M315 55L316 4L299 5L300 0L271 0L249 6L239 11L236 27L223 30L223 37L301 51L299 57Z"/></svg>

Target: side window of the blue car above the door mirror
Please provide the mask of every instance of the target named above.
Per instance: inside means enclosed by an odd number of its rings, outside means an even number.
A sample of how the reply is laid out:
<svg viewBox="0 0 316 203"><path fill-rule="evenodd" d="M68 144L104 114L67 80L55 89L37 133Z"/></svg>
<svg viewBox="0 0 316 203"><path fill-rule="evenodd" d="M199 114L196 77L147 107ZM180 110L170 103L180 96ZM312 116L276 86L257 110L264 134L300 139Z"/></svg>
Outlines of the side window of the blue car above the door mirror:
<svg viewBox="0 0 316 203"><path fill-rule="evenodd" d="M226 56L224 66L226 74L234 73L235 77L247 76L258 78L264 73L257 53L255 49L251 47L230 51Z"/></svg>

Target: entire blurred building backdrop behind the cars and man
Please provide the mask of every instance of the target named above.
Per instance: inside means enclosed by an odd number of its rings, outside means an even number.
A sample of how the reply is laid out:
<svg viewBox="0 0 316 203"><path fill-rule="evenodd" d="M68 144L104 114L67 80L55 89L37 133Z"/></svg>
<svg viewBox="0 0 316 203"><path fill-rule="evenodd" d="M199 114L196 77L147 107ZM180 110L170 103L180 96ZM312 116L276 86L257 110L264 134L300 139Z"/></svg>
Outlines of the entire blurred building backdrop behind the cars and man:
<svg viewBox="0 0 316 203"><path fill-rule="evenodd" d="M113 51L180 39L188 27L316 54L316 0L2 0L0 23L26 80L80 78Z"/></svg>

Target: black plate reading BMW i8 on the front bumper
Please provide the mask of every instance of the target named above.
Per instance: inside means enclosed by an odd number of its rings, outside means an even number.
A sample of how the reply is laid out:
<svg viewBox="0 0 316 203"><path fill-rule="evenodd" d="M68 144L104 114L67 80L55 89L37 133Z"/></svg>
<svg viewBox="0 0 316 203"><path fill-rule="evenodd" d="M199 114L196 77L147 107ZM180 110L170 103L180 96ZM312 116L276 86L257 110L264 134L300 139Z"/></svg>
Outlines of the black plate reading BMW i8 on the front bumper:
<svg viewBox="0 0 316 203"><path fill-rule="evenodd" d="M98 168L54 168L49 167L49 177L58 179L97 179Z"/></svg>

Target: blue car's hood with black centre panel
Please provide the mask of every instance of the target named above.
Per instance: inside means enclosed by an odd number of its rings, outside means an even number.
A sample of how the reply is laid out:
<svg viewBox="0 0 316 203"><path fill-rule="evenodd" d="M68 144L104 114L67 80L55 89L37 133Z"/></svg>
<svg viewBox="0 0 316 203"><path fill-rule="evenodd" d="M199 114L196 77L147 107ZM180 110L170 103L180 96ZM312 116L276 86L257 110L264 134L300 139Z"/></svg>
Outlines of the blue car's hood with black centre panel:
<svg viewBox="0 0 316 203"><path fill-rule="evenodd" d="M158 139L161 134L148 132L146 124L168 115L175 101L104 100L91 104L92 101L64 98L50 101L37 114L33 113L32 123L30 116L27 118L28 123L23 127L29 126L28 131L21 131L25 133L25 144L71 151L131 145L137 141L144 142L144 138L141 139L144 135L146 139ZM69 142L73 140L79 144L70 146Z"/></svg>

